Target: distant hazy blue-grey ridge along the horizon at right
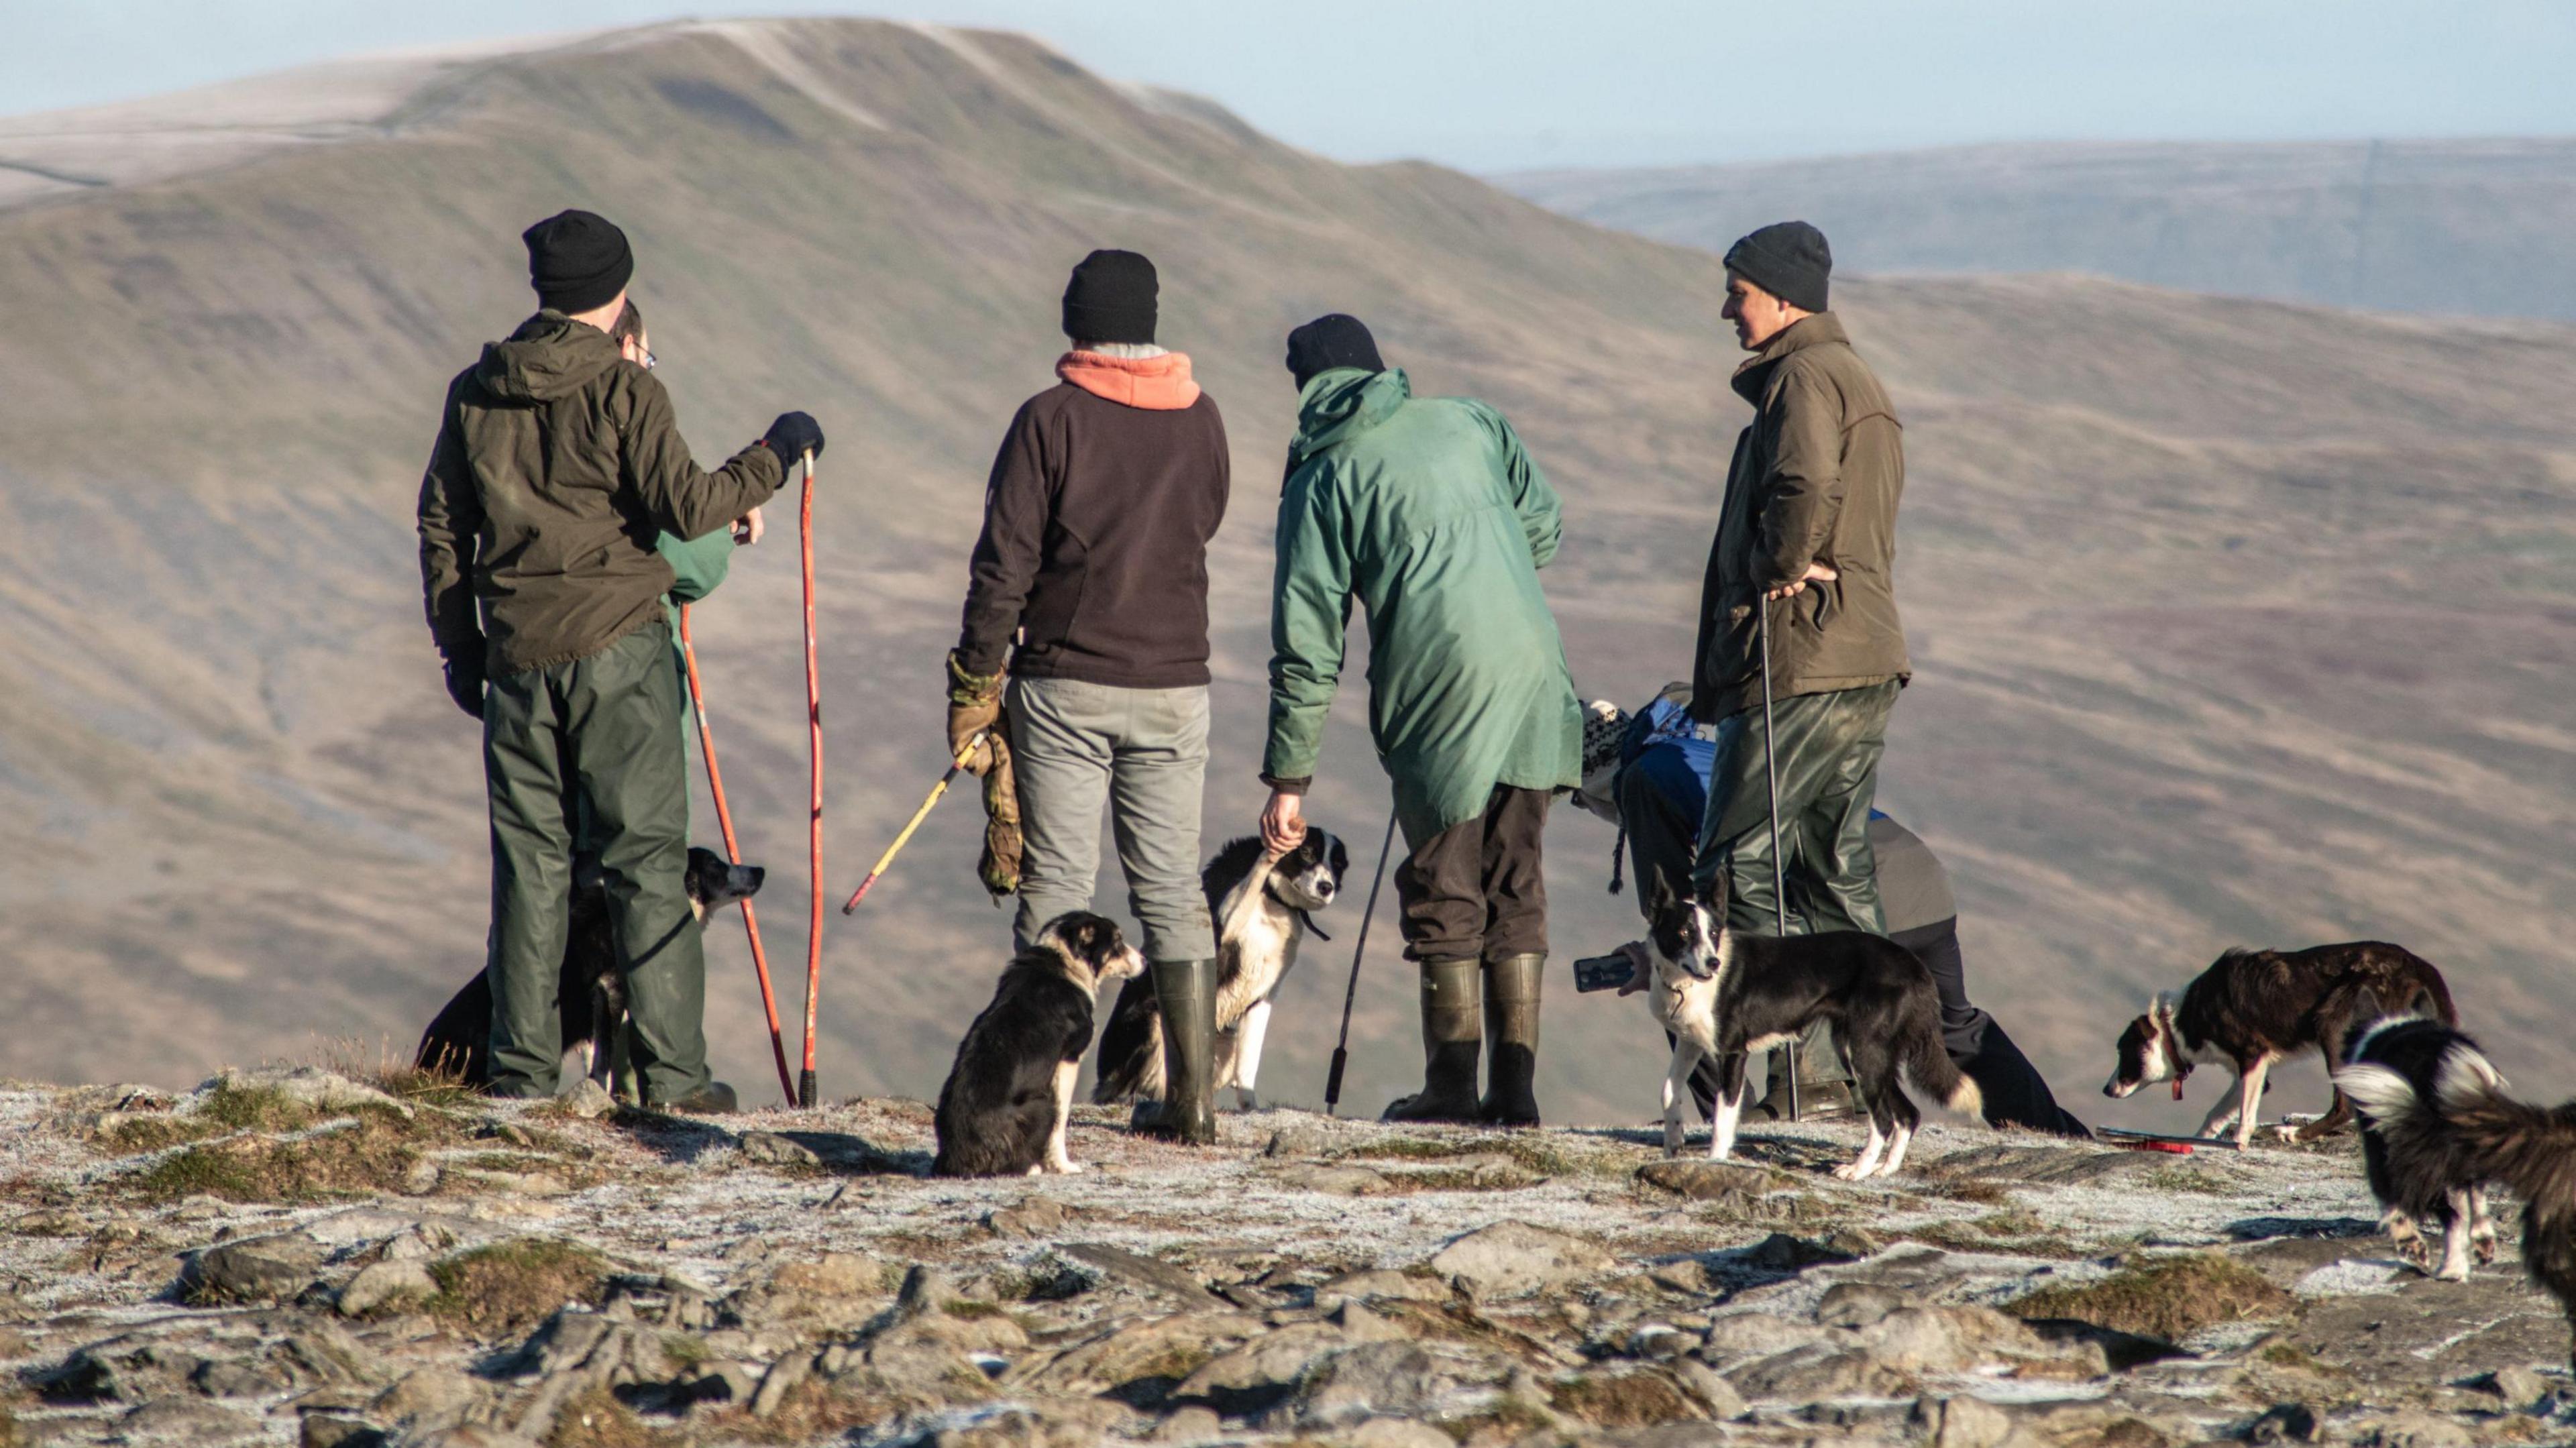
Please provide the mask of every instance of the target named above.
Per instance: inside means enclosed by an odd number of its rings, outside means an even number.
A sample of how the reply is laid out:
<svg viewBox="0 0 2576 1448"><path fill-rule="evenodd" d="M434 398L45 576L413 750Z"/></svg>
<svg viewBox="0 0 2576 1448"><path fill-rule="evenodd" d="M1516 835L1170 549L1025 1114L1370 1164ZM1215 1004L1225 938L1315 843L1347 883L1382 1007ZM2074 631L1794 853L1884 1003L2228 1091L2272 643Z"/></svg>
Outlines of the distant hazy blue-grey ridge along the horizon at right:
<svg viewBox="0 0 2576 1448"><path fill-rule="evenodd" d="M2576 139L1994 144L1499 183L1710 250L1806 216L1865 273L2087 271L2329 307L2576 319Z"/></svg>

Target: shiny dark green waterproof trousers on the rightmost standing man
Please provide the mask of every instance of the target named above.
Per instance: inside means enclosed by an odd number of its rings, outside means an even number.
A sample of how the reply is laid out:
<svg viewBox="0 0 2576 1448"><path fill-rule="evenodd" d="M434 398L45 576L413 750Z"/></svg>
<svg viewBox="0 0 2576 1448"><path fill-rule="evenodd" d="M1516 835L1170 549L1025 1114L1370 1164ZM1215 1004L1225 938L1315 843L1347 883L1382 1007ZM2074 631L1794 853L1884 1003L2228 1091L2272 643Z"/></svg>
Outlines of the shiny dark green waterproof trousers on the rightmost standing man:
<svg viewBox="0 0 2576 1448"><path fill-rule="evenodd" d="M1896 680L1888 680L1772 703L1785 855L1780 873L1788 886L1790 935L1888 933L1878 907L1878 861L1870 855L1870 801L1878 799L1878 757L1888 750L1896 691ZM1726 925L1747 935L1777 935L1759 703L1718 721L1718 757L1708 776L1708 814L1700 822L1692 884L1705 886L1721 871ZM1850 1080L1834 1051L1832 1028L1819 1023L1803 1046L1806 1077Z"/></svg>

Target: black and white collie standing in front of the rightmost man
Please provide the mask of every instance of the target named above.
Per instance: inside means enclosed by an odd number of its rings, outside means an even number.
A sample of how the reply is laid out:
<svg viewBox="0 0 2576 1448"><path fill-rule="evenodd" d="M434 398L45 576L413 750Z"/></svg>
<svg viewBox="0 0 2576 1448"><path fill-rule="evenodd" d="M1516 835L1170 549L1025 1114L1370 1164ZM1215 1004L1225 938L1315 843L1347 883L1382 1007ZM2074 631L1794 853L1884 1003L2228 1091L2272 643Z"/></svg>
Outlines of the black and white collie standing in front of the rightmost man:
<svg viewBox="0 0 2576 1448"><path fill-rule="evenodd" d="M1672 1031L1664 1072L1664 1154L1682 1152L1682 1103L1700 1056L1718 1062L1718 1110L1708 1157L1723 1162L1744 1110L1744 1054L1795 1041L1819 1020L1834 1025L1852 1064L1852 1092L1870 1113L1860 1157L1834 1167L1842 1180L1893 1177L1922 1113L1899 1072L1963 1116L1981 1116L1984 1098L1940 1036L1940 992L1911 951L1883 935L1744 935L1726 928L1726 884L1700 899L1674 894L1656 873L1651 899L1654 987L1646 1005Z"/></svg>

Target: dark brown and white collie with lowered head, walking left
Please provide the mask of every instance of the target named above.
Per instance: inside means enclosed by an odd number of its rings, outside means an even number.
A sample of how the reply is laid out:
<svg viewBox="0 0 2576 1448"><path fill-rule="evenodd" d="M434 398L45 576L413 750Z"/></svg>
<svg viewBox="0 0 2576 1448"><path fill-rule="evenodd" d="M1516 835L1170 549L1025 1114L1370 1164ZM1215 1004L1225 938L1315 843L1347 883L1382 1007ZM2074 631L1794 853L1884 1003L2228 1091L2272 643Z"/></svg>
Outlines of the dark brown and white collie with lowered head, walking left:
<svg viewBox="0 0 2576 1448"><path fill-rule="evenodd" d="M2143 1085L2174 1082L2174 1100L2182 1100L2192 1067L2226 1064L2236 1072L2236 1090L2210 1108L2200 1134L2218 1136L2236 1123L2236 1144L2249 1147L2264 1074L2303 1051L2321 1051L2329 1067L2339 1062L2352 1031L2378 1015L2378 1007L2357 1007L2365 997L2442 1025L2460 1023L2442 971L2403 946L2352 940L2308 951L2228 951L2179 997L2159 992L2146 1015L2128 1023L2102 1095L2125 1098ZM2352 1103L2336 1087L2326 1116L2280 1134L2313 1141L2347 1121Z"/></svg>

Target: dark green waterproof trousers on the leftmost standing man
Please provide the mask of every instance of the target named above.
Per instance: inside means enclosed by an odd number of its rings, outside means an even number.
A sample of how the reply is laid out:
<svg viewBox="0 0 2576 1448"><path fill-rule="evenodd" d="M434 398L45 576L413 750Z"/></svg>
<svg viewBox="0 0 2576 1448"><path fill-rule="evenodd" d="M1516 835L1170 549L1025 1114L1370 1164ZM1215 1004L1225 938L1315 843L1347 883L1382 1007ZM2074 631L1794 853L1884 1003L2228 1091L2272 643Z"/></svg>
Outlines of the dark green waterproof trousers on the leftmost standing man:
<svg viewBox="0 0 2576 1448"><path fill-rule="evenodd" d="M644 1100L706 1085L706 956L688 907L688 752L680 678L654 621L598 654L492 680L484 783L492 799L492 1092L556 1090L556 989L572 912L574 830L608 881Z"/></svg>

